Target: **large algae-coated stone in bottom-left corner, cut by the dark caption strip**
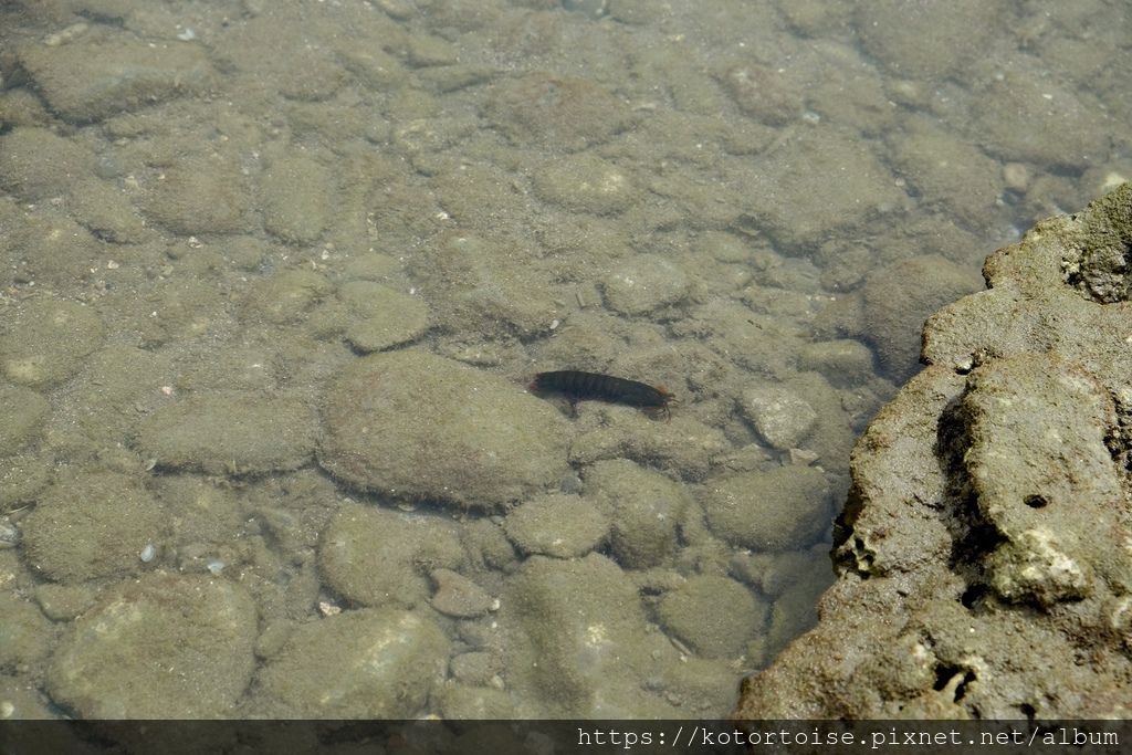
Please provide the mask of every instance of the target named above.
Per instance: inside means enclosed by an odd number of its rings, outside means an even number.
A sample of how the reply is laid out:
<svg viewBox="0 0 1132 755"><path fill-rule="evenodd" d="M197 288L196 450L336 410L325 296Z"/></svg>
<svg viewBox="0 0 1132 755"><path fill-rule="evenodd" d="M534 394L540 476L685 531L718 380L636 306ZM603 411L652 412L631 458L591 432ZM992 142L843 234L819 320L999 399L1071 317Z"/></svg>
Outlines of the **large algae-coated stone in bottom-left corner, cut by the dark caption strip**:
<svg viewBox="0 0 1132 755"><path fill-rule="evenodd" d="M251 597L231 582L123 582L69 627L48 689L82 718L231 717L251 680L256 623Z"/></svg>

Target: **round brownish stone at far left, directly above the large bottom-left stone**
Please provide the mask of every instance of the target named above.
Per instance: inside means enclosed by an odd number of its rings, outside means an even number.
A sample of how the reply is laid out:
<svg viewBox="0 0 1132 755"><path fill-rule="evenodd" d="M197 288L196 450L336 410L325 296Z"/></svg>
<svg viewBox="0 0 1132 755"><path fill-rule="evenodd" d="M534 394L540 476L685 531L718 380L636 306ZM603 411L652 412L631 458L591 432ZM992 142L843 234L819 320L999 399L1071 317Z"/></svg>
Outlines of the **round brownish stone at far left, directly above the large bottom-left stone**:
<svg viewBox="0 0 1132 755"><path fill-rule="evenodd" d="M139 569L142 550L168 526L163 507L136 478L84 472L42 494L23 521L23 543L32 566L74 582Z"/></svg>

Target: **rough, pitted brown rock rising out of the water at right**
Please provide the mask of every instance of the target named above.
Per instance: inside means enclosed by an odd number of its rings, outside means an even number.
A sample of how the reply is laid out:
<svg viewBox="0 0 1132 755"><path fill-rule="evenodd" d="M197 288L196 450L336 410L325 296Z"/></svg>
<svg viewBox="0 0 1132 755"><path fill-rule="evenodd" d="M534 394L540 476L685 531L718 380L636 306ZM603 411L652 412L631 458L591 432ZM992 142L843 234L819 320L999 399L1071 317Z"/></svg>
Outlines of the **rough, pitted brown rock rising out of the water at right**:
<svg viewBox="0 0 1132 755"><path fill-rule="evenodd" d="M984 276L857 444L821 621L738 717L1132 713L1132 183Z"/></svg>

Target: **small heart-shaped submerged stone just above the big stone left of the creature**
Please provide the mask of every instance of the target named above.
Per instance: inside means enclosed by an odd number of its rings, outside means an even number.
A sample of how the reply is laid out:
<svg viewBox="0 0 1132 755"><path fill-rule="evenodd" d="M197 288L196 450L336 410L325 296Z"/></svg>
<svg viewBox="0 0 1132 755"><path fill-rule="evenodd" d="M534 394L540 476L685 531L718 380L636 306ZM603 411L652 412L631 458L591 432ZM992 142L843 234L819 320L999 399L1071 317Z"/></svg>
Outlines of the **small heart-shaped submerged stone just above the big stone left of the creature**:
<svg viewBox="0 0 1132 755"><path fill-rule="evenodd" d="M352 281L338 297L351 314L346 341L363 353L412 341L428 326L428 306L421 299L380 283Z"/></svg>

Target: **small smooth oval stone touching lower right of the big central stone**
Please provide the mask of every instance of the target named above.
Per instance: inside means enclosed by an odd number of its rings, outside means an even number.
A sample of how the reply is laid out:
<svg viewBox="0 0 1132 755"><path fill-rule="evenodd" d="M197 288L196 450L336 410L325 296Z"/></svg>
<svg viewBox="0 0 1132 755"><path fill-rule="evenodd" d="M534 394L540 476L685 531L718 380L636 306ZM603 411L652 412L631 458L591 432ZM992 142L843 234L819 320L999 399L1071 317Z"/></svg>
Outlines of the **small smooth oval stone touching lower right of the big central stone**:
<svg viewBox="0 0 1132 755"><path fill-rule="evenodd" d="M597 548L609 533L606 508L592 498L550 492L512 509L503 527L524 552L576 558Z"/></svg>

